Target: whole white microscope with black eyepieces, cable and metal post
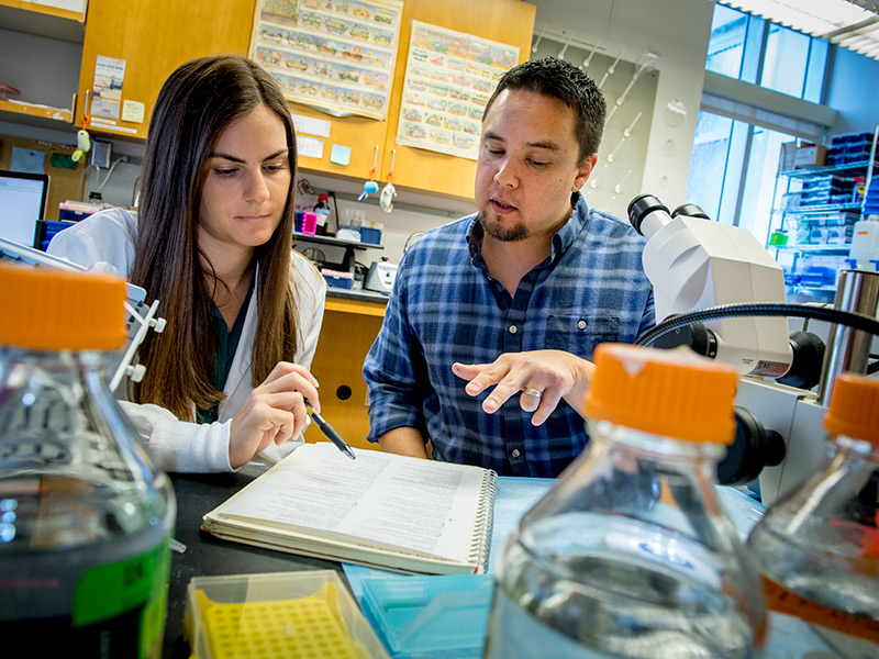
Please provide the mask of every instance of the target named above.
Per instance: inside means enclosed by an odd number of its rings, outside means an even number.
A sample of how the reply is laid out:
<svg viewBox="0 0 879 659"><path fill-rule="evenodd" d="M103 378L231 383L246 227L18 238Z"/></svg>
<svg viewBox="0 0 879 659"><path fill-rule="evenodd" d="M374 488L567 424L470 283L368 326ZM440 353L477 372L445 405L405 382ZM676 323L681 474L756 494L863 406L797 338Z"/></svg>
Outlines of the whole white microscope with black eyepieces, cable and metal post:
<svg viewBox="0 0 879 659"><path fill-rule="evenodd" d="M630 203L628 219L647 238L643 263L656 302L657 326L638 344L688 346L738 369L736 438L717 478L723 484L759 478L768 505L823 462L823 418L836 376L868 370L879 275L843 271L835 309L786 304L783 270L750 232L712 222L693 204L669 212L649 194ZM833 323L827 343L789 333L793 315ZM839 324L852 322L866 332Z"/></svg>

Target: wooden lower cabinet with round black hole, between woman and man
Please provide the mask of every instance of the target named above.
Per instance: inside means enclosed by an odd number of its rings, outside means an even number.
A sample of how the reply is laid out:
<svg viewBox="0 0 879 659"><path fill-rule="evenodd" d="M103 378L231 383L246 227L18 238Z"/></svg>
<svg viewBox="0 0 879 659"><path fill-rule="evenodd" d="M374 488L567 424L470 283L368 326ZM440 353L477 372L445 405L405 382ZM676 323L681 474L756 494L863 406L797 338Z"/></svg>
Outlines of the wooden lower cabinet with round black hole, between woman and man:
<svg viewBox="0 0 879 659"><path fill-rule="evenodd" d="M363 366L383 320L381 302L327 298L311 365L311 372L321 383L322 416L357 448L378 448L366 440L369 415ZM305 440L325 442L326 437L312 424L305 431Z"/></svg>

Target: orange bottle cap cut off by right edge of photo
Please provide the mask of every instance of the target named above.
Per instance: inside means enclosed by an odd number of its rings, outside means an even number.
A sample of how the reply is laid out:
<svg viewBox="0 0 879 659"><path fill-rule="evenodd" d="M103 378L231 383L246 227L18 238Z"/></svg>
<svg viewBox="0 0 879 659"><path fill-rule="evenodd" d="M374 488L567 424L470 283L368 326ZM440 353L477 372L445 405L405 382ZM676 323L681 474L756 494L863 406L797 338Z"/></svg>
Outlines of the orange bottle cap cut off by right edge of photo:
<svg viewBox="0 0 879 659"><path fill-rule="evenodd" d="M837 377L824 427L879 446L879 380L854 373Z"/></svg>

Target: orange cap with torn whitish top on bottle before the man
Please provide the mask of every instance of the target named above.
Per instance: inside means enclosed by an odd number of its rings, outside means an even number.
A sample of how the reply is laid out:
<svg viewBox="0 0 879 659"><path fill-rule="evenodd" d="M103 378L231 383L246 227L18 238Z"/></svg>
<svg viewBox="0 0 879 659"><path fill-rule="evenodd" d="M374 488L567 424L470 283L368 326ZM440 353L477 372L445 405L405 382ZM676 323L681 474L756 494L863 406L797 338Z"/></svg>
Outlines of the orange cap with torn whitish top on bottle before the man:
<svg viewBox="0 0 879 659"><path fill-rule="evenodd" d="M732 444L738 375L689 349L621 344L596 349L586 413L645 433Z"/></svg>

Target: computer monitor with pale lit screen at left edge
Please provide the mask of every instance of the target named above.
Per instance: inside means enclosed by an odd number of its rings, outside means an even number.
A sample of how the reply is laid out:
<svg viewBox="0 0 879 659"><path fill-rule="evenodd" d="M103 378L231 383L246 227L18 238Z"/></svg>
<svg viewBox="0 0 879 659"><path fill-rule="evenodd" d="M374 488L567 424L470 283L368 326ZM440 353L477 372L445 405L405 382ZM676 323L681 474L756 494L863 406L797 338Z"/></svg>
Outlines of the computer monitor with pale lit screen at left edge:
<svg viewBox="0 0 879 659"><path fill-rule="evenodd" d="M0 169L0 237L37 247L47 197L48 175Z"/></svg>

